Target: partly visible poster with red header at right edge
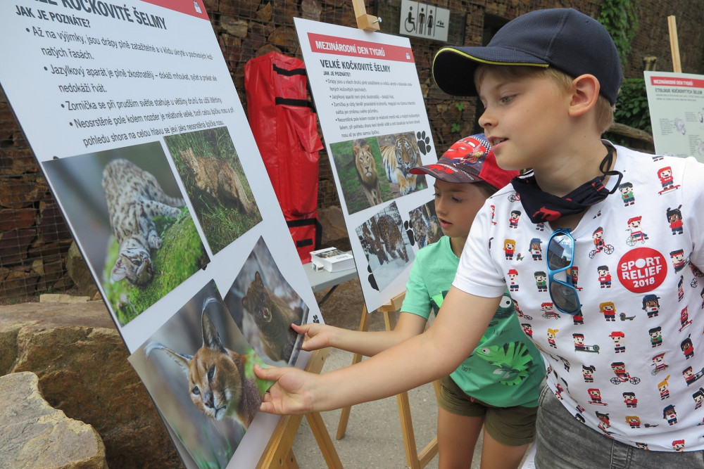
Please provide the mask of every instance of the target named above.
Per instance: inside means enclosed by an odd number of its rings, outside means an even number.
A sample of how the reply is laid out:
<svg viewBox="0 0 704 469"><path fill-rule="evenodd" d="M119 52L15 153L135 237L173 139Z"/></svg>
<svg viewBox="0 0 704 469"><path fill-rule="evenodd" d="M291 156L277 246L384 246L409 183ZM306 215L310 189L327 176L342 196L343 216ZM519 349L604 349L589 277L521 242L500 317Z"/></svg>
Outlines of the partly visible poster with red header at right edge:
<svg viewBox="0 0 704 469"><path fill-rule="evenodd" d="M645 72L655 153L704 162L704 76Z"/></svg>

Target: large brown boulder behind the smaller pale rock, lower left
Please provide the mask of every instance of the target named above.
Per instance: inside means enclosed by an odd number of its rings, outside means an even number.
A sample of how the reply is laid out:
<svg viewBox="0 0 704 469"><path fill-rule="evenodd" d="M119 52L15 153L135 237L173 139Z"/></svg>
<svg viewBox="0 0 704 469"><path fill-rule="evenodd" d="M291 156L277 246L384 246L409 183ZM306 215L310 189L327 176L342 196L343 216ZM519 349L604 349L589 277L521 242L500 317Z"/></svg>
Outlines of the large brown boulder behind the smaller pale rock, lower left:
<svg viewBox="0 0 704 469"><path fill-rule="evenodd" d="M51 406L99 433L110 467L183 467L128 355L102 302L0 306L0 375L35 373Z"/></svg>

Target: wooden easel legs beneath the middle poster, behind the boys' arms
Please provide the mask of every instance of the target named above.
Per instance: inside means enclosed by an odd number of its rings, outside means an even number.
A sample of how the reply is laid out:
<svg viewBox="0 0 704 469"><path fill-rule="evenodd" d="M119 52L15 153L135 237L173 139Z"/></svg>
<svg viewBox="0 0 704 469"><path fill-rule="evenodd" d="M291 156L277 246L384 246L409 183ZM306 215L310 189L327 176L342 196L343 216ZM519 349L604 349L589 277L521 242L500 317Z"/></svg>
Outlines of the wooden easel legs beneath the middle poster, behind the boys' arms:
<svg viewBox="0 0 704 469"><path fill-rule="evenodd" d="M391 313L401 310L401 304L405 296L406 293L401 293L401 295L391 298L388 303L377 309L377 311L384 313L384 325L386 326L386 330L394 329L395 321L391 318ZM366 305L362 308L362 319L360 319L359 330L369 330L369 314L367 314ZM352 364L359 363L360 361L362 361L362 355L354 354ZM435 397L439 397L440 381L434 381L433 385L435 387ZM403 448L406 451L406 463L408 468L425 468L427 463L438 453L438 438L435 436L419 453L415 445L415 433L413 432L413 419L410 416L408 392L396 394L396 403L398 404L398 417L401 419L401 435L403 435ZM340 422L337 425L337 439L342 439L345 436L351 409L351 407L342 409Z"/></svg>

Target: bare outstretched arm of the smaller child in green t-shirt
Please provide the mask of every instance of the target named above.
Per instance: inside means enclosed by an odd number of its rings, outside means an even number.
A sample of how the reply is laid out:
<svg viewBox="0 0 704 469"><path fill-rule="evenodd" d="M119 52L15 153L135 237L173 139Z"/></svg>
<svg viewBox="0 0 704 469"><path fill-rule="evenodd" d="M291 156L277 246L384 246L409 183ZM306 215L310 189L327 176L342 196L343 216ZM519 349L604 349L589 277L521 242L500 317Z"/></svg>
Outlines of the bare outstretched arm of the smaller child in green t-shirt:
<svg viewBox="0 0 704 469"><path fill-rule="evenodd" d="M403 340L418 335L425 329L427 321L417 314L401 313L394 330L361 331L349 330L320 323L307 323L303 326L291 324L303 336L303 350L318 350L335 347L364 356L373 356L382 350L393 347Z"/></svg>

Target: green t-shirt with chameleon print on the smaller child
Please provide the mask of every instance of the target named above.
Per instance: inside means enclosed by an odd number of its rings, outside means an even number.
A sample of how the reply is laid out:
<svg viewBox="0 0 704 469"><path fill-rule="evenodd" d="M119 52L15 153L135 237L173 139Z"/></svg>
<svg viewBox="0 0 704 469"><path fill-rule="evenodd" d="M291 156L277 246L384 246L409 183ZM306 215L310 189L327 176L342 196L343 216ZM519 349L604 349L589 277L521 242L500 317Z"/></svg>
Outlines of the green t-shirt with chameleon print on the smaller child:
<svg viewBox="0 0 704 469"><path fill-rule="evenodd" d="M448 236L418 251L401 311L425 319L431 309L437 314L459 262ZM448 310L443 314L466 311ZM523 332L508 290L477 348L450 373L468 395L496 407L537 406L544 375L543 359Z"/></svg>

